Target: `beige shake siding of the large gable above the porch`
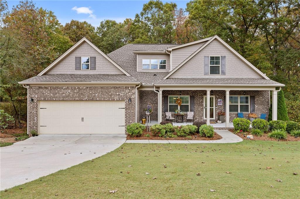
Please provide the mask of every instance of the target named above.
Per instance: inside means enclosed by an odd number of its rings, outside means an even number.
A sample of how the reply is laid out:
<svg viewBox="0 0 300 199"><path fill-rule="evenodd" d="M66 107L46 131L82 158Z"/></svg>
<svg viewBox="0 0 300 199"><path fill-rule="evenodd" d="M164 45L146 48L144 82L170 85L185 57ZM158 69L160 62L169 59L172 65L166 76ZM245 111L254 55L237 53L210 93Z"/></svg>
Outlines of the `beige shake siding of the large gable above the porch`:
<svg viewBox="0 0 300 199"><path fill-rule="evenodd" d="M226 56L226 75L204 75L204 56ZM169 78L262 78L217 40L209 43Z"/></svg>

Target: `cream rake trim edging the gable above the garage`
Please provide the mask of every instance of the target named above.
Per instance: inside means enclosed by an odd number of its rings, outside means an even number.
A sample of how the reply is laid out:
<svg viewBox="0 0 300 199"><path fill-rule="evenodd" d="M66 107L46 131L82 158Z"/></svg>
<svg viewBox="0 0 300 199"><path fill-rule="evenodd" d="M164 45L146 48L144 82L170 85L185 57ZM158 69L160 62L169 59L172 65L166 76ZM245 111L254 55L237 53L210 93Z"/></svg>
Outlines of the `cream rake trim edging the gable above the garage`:
<svg viewBox="0 0 300 199"><path fill-rule="evenodd" d="M114 62L110 57L108 57L104 52L102 52L97 46L95 46L92 42L90 42L85 37L82 37L81 40L79 40L77 43L75 43L71 48L69 48L67 51L65 51L61 56L59 56L56 60L54 60L49 66L47 66L42 72L40 72L37 76L44 75L46 72L48 72L53 66L55 66L57 63L59 63L64 57L66 57L70 52L72 52L74 49L76 49L82 42L87 42L89 45L91 45L96 51L98 51L102 56L104 56L107 60L109 60L113 65L115 65L118 69L120 69L125 75L131 76L128 72L126 72L124 69L122 69L121 66L119 66L116 62Z"/></svg>

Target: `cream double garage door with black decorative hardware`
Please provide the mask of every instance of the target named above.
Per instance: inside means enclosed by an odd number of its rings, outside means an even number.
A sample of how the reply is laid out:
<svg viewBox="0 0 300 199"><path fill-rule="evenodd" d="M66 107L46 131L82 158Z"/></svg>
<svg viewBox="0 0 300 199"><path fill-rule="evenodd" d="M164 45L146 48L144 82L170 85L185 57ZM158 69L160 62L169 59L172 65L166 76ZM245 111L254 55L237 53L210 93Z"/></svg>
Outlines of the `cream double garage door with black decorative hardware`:
<svg viewBox="0 0 300 199"><path fill-rule="evenodd" d="M124 101L39 101L40 134L125 133Z"/></svg>

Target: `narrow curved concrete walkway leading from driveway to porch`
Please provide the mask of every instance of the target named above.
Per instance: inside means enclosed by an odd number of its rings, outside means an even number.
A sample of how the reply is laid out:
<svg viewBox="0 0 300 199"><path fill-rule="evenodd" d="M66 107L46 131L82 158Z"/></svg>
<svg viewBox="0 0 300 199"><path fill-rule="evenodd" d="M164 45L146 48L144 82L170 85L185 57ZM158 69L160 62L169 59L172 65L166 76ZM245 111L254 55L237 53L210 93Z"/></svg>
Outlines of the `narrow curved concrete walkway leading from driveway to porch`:
<svg viewBox="0 0 300 199"><path fill-rule="evenodd" d="M222 136L222 139L218 140L151 140L151 139L136 139L126 140L125 143L161 143L161 144L189 144L189 143L235 143L241 142L239 136L231 133L229 130L214 130L217 134Z"/></svg>

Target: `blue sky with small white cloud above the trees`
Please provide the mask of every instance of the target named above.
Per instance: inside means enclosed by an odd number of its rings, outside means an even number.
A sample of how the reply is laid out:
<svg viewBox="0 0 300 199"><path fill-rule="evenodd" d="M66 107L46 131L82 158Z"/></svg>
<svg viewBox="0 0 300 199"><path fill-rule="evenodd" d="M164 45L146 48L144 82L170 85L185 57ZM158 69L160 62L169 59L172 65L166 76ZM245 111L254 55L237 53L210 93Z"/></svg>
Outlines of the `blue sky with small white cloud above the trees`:
<svg viewBox="0 0 300 199"><path fill-rule="evenodd" d="M57 16L61 24L70 22L71 19L87 21L98 26L104 19L112 19L123 22L126 18L134 18L140 13L143 4L148 1L33 1L37 7L51 10ZM171 1L163 1L171 2ZM178 8L186 7L189 1L173 0ZM19 1L7 1L11 10Z"/></svg>

